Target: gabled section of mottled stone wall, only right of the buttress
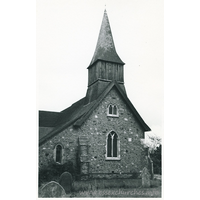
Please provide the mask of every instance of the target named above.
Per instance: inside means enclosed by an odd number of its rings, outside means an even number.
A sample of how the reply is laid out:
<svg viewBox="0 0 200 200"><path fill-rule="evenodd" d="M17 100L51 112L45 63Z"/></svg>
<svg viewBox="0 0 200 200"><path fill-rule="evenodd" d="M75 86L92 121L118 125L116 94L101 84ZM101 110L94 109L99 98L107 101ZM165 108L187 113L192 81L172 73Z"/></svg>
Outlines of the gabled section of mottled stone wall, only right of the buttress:
<svg viewBox="0 0 200 200"><path fill-rule="evenodd" d="M107 116L107 107L110 104L117 105L119 117ZM82 130L88 135L91 144L90 173L132 173L140 171L145 165L145 152L140 144L143 131L115 89L93 111ZM105 160L106 136L112 130L118 134L120 140L119 161Z"/></svg>

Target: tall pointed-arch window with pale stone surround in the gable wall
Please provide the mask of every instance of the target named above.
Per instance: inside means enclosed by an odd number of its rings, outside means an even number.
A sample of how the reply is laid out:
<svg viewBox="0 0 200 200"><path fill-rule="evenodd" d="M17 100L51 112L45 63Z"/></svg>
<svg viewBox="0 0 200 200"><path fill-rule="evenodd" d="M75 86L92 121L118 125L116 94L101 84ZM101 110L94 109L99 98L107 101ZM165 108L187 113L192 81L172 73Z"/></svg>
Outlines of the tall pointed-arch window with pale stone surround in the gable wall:
<svg viewBox="0 0 200 200"><path fill-rule="evenodd" d="M118 135L114 132L111 131L108 136L107 136L107 154L106 158L108 160L117 160L120 158L119 155L119 139Z"/></svg>

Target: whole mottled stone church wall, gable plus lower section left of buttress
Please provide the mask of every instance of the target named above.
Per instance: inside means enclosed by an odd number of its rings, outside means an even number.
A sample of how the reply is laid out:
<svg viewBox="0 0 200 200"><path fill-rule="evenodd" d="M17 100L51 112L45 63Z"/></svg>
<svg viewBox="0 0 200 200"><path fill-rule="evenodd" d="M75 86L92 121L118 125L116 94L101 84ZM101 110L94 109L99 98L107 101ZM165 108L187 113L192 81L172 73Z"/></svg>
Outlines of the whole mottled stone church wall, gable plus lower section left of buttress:
<svg viewBox="0 0 200 200"><path fill-rule="evenodd" d="M107 116L109 104L117 105L119 117ZM105 160L106 138L110 131L115 131L119 137L120 160ZM114 88L80 128L70 126L40 146L39 166L43 167L53 160L56 144L64 147L62 163L71 160L76 166L80 135L87 136L89 140L89 173L133 173L141 171L147 164L140 143L143 130Z"/></svg>

